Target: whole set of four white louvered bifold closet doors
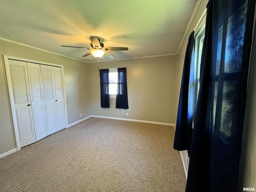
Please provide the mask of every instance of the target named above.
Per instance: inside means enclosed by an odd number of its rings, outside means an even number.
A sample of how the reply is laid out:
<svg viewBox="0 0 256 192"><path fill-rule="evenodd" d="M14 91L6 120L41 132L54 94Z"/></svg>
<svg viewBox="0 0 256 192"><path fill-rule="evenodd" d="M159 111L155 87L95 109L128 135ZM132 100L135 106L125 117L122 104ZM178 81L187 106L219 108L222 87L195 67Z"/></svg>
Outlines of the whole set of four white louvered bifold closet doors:
<svg viewBox="0 0 256 192"><path fill-rule="evenodd" d="M61 68L8 59L20 147L66 128Z"/></svg>

